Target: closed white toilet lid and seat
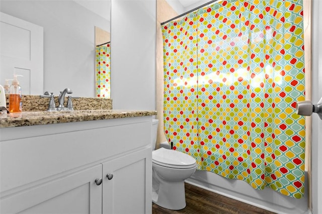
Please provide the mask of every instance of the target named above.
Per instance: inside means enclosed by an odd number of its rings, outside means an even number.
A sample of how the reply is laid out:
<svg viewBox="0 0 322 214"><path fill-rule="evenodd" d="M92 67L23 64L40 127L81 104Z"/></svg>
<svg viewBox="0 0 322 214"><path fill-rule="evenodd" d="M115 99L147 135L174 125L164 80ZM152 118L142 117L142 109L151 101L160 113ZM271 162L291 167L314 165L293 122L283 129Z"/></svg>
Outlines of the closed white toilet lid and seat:
<svg viewBox="0 0 322 214"><path fill-rule="evenodd" d="M152 152L152 162L172 168L192 168L196 165L196 160L190 155L165 148Z"/></svg>

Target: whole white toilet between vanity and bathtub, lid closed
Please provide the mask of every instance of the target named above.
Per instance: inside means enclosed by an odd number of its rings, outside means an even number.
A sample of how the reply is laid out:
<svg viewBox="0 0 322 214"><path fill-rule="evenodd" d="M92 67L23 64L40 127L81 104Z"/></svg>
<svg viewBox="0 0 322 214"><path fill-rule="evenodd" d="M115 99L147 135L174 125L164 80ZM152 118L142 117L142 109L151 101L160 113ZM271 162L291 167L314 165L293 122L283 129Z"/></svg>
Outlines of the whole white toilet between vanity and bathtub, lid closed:
<svg viewBox="0 0 322 214"><path fill-rule="evenodd" d="M155 150L158 120L152 121L152 201L164 208L186 207L185 179L197 168L196 160L171 149Z"/></svg>

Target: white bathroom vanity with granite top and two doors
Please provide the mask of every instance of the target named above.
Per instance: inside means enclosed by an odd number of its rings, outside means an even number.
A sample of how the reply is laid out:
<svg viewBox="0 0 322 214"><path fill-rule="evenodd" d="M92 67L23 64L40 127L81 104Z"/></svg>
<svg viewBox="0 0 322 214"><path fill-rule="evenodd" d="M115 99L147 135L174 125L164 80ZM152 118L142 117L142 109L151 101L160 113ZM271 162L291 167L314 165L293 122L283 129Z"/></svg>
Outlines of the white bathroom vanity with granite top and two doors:
<svg viewBox="0 0 322 214"><path fill-rule="evenodd" d="M0 119L1 213L151 213L155 111Z"/></svg>

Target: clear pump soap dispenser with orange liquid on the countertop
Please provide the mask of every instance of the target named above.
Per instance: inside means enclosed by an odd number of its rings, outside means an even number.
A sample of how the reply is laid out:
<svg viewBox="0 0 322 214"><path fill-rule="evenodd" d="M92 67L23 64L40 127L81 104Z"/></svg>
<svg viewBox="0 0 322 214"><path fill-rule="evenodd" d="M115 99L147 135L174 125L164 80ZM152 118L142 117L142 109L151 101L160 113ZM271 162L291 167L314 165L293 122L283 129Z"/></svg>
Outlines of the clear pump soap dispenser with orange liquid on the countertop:
<svg viewBox="0 0 322 214"><path fill-rule="evenodd" d="M9 90L9 112L22 112L22 101L21 101L21 87L17 79L18 76L14 74L14 80L12 80L10 90Z"/></svg>

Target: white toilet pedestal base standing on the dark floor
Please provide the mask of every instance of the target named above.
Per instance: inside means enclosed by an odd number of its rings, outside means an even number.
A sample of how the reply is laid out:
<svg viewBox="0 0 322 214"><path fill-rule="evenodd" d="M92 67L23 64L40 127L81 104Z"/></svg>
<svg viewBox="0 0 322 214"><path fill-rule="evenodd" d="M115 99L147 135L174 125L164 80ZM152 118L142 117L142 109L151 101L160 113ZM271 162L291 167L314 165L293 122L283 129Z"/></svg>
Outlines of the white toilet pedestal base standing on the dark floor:
<svg viewBox="0 0 322 214"><path fill-rule="evenodd" d="M152 192L152 202L173 210L186 207L185 182L160 182L157 191Z"/></svg>

